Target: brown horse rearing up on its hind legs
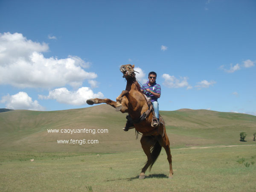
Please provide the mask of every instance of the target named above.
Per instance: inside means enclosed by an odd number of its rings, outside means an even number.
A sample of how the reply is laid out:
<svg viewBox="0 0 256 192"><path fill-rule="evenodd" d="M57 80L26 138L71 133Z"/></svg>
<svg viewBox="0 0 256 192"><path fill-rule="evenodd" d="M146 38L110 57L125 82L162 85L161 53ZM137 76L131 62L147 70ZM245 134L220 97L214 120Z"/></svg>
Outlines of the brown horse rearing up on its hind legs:
<svg viewBox="0 0 256 192"><path fill-rule="evenodd" d="M127 80L126 88L116 98L116 102L111 99L88 99L86 102L89 105L106 103L116 108L116 111L122 113L129 113L134 121L135 129L142 133L143 136L140 139L143 151L148 157L145 166L141 170L140 179L145 178L145 172L150 167L152 168L154 162L157 160L162 147L166 150L167 159L169 161L170 172L169 178L172 178L172 155L170 151L170 142L166 134L166 128L163 119L160 117L160 123L157 127L152 127L151 122L153 118L153 111L145 117L144 120L140 120L144 112L148 111L148 102L143 95L141 87L135 78L134 65L122 65L120 71L123 73L123 77Z"/></svg>

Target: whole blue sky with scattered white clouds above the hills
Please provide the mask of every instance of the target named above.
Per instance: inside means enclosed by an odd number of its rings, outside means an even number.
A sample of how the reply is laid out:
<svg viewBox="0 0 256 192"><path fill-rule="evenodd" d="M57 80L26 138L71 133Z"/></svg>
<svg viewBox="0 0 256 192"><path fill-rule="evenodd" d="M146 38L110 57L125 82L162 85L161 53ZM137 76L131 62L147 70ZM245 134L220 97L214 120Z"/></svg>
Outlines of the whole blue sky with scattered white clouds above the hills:
<svg viewBox="0 0 256 192"><path fill-rule="evenodd" d="M255 0L0 0L0 108L115 100L157 73L162 111L256 115Z"/></svg>

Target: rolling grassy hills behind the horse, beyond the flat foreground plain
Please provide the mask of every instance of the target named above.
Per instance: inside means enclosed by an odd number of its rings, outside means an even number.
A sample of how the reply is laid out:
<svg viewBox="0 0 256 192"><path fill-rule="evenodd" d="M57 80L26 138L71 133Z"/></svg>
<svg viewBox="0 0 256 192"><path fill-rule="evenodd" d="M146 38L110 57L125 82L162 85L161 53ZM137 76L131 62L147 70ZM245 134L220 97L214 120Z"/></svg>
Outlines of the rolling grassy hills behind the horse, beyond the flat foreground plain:
<svg viewBox="0 0 256 192"><path fill-rule="evenodd" d="M256 144L256 116L207 110L160 111L171 148ZM141 151L135 131L124 132L126 114L109 105L65 111L15 110L0 113L0 150L35 152ZM108 129L108 133L48 133L47 129ZM98 140L98 144L58 144L57 140Z"/></svg>

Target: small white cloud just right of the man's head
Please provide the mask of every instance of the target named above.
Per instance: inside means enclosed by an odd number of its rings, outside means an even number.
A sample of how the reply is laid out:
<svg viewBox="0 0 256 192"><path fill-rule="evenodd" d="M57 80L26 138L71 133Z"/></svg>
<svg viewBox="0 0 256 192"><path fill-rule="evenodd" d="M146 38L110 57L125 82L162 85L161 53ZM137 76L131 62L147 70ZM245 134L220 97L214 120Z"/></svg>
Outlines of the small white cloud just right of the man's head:
<svg viewBox="0 0 256 192"><path fill-rule="evenodd" d="M187 82L187 77L180 77L180 79L177 79L175 76L170 76L169 74L163 74L162 75L164 82L163 84L166 87L169 88L180 88L180 87L187 87L187 89L191 89L191 86L189 86L189 83Z"/></svg>

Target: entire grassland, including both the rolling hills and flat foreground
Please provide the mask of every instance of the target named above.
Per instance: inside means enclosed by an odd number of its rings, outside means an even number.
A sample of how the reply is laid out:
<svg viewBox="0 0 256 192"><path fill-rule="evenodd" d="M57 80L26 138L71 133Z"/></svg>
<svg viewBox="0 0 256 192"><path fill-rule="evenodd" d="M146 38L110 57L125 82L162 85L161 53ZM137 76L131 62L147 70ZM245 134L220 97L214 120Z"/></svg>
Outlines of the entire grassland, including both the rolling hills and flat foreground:
<svg viewBox="0 0 256 192"><path fill-rule="evenodd" d="M138 179L146 160L140 141L133 130L122 131L125 114L108 105L0 113L0 191L256 191L256 116L188 109L160 114L171 141L172 180L164 150ZM108 134L52 134L49 128L107 128ZM240 132L247 142L239 141ZM99 144L57 143L70 138Z"/></svg>

